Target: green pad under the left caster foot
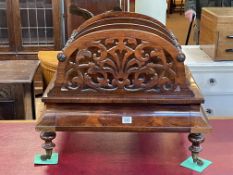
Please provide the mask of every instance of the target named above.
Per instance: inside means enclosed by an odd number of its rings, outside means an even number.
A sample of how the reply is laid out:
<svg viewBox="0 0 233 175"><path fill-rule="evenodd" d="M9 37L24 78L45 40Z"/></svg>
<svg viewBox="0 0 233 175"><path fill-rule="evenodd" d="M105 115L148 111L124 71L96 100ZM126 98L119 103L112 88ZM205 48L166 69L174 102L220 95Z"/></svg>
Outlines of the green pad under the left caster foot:
<svg viewBox="0 0 233 175"><path fill-rule="evenodd" d="M34 164L37 165L55 165L58 163L58 153L53 152L50 159L43 160L41 154L36 154L34 157Z"/></svg>

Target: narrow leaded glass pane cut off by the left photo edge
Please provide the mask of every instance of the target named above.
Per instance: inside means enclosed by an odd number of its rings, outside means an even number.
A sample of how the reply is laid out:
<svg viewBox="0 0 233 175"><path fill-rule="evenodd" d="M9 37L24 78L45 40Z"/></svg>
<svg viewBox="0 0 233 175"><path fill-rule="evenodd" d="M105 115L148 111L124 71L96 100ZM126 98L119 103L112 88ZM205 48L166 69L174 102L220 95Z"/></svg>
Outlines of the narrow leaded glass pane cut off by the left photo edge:
<svg viewBox="0 0 233 175"><path fill-rule="evenodd" d="M0 0L0 47L9 47L6 0Z"/></svg>

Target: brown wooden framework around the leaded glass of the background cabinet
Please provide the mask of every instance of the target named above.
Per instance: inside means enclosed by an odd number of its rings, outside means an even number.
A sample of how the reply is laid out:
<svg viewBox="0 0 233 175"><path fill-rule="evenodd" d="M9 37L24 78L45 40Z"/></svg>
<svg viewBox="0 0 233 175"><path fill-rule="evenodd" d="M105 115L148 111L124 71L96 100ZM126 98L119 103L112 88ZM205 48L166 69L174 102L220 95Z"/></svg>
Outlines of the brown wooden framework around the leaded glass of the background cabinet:
<svg viewBox="0 0 233 175"><path fill-rule="evenodd" d="M19 0L7 0L7 24L9 47L0 48L0 59L37 59L39 50L60 50L61 34L61 4L60 0L52 0L53 41L54 46L23 46L21 34L21 17Z"/></svg>

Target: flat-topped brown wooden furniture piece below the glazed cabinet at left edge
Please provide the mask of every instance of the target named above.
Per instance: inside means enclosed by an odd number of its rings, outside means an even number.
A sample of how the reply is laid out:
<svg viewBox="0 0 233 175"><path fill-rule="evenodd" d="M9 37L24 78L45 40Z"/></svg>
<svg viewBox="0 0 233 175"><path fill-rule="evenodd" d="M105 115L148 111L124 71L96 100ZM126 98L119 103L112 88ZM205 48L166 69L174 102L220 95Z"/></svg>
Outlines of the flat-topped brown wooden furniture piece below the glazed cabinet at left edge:
<svg viewBox="0 0 233 175"><path fill-rule="evenodd" d="M0 119L35 119L37 60L0 61Z"/></svg>

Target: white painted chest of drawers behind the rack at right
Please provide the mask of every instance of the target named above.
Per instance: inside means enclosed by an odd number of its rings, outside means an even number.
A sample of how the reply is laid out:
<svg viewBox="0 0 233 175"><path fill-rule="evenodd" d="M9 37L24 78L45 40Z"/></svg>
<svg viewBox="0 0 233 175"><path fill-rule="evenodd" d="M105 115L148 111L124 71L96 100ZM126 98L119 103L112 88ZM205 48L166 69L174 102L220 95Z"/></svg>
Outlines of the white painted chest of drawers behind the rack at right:
<svg viewBox="0 0 233 175"><path fill-rule="evenodd" d="M233 114L233 62L213 61L200 46L182 46L197 85L204 95L204 110L210 118Z"/></svg>

